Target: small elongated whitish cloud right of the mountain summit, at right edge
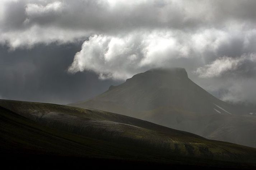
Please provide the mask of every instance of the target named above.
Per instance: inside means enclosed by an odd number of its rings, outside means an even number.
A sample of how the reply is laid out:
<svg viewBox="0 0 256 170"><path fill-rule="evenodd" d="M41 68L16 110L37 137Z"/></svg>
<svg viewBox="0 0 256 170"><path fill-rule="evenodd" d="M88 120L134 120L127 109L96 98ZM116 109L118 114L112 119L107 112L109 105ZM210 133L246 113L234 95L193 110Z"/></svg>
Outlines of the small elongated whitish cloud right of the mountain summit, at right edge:
<svg viewBox="0 0 256 170"><path fill-rule="evenodd" d="M210 64L199 67L196 73L203 78L218 77L225 72L236 70L239 66L244 64L245 61L251 61L256 64L256 54L242 55L241 57L235 58L227 56L220 57Z"/></svg>

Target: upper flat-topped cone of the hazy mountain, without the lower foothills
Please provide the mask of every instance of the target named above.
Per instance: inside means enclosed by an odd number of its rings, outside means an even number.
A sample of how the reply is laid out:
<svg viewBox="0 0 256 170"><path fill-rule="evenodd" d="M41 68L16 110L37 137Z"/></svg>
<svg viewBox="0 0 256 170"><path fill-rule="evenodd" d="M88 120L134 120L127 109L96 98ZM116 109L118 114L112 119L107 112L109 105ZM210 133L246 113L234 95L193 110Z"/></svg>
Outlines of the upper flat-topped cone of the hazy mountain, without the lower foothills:
<svg viewBox="0 0 256 170"><path fill-rule="evenodd" d="M103 104L102 107L110 109L117 105L134 111L164 106L182 108L204 115L215 114L218 111L223 114L237 113L229 104L210 95L188 79L187 72L182 68L153 69L136 74L121 85L111 86L108 91L92 100L71 105L90 106L96 104L95 102L107 102L107 105Z"/></svg>

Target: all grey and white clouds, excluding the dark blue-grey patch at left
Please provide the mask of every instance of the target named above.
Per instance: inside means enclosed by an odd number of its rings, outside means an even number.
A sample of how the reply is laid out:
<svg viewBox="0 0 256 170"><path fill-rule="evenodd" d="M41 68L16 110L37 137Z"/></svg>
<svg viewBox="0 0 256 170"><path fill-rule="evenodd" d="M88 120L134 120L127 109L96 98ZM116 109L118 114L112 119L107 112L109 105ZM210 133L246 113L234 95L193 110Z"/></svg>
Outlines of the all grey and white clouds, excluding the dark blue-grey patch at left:
<svg viewBox="0 0 256 170"><path fill-rule="evenodd" d="M0 43L17 50L84 40L68 71L94 71L101 79L179 66L202 85L229 77L231 85L250 86L255 8L254 0L2 0ZM239 83L214 86L232 89L223 99L243 91Z"/></svg>

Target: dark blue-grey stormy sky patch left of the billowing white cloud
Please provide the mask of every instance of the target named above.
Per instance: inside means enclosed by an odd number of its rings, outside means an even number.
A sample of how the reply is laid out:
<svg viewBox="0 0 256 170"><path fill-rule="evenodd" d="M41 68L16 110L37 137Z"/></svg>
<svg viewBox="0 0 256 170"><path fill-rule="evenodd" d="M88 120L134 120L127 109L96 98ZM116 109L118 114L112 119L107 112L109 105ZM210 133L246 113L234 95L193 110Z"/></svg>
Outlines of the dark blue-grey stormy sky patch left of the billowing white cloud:
<svg viewBox="0 0 256 170"><path fill-rule="evenodd" d="M0 47L0 97L68 104L97 95L111 80L98 80L93 72L71 75L67 67L81 44L45 46L9 52Z"/></svg>

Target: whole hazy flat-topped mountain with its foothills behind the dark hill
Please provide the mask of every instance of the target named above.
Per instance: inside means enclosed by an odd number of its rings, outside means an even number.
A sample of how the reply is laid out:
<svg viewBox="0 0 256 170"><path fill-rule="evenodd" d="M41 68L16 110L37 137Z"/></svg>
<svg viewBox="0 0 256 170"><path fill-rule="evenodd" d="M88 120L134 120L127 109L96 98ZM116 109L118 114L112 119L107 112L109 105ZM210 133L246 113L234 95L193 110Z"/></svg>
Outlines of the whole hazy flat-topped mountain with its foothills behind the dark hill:
<svg viewBox="0 0 256 170"><path fill-rule="evenodd" d="M256 116L209 94L190 80L183 68L136 74L93 99L70 106L115 112L209 139L256 147Z"/></svg>

